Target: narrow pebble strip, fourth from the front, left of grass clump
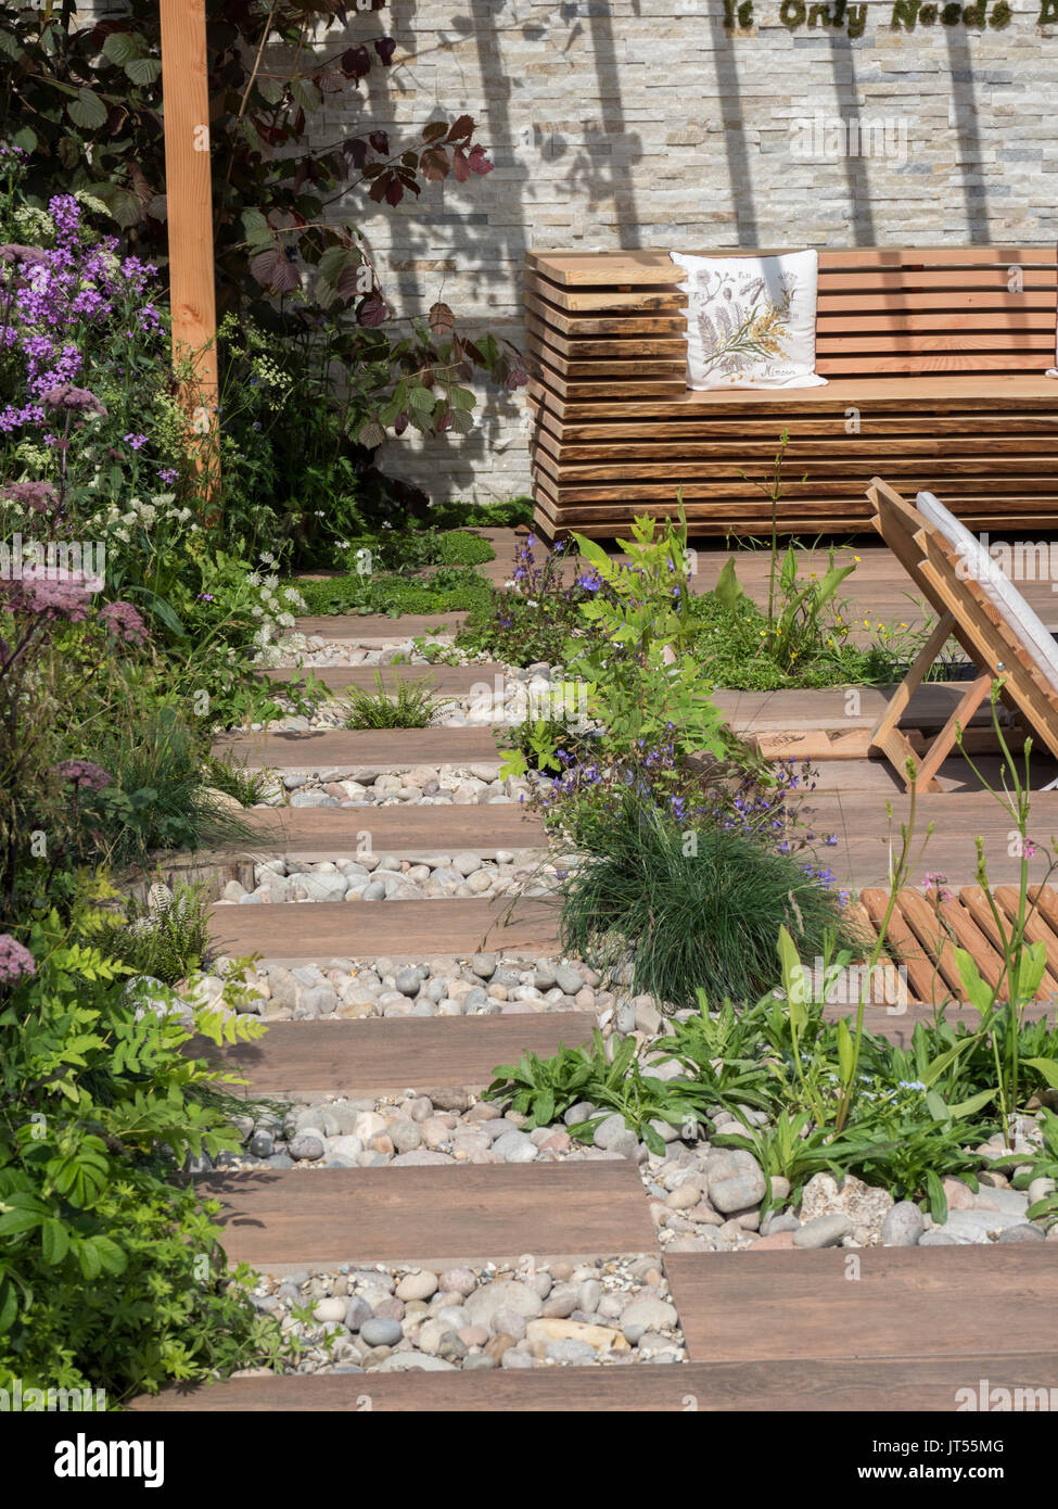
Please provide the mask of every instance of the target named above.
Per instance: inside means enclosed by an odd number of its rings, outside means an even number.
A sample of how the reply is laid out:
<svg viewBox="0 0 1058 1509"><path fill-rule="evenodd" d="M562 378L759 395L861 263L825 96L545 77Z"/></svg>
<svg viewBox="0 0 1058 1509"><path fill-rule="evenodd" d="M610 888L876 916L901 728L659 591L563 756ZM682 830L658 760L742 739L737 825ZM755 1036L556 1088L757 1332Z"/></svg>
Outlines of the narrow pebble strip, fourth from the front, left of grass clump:
<svg viewBox="0 0 1058 1509"><path fill-rule="evenodd" d="M495 859L468 850L412 859L373 853L334 862L273 859L254 866L252 890L229 880L216 904L546 896L577 863L572 854L549 860L546 850L498 850Z"/></svg>

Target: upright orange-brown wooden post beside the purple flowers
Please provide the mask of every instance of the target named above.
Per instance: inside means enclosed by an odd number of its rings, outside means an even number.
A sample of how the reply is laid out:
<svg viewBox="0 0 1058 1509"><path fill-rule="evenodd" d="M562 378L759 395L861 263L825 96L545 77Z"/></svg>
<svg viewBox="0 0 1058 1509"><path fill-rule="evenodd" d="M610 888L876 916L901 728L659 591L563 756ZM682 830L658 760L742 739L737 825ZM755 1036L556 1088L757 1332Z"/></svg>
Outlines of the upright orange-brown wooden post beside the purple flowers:
<svg viewBox="0 0 1058 1509"><path fill-rule="evenodd" d="M190 359L195 380L184 397L192 445L208 490L217 472L217 312L213 278L210 92L205 0L160 0L161 103L169 222L169 299L174 362Z"/></svg>

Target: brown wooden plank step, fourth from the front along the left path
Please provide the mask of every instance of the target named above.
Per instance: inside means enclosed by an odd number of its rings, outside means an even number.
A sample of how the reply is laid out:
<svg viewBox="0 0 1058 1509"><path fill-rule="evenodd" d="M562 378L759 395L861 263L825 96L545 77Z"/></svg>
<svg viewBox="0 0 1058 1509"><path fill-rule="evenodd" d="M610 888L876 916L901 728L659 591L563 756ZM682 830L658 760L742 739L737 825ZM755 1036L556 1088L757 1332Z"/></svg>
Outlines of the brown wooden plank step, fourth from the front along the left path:
<svg viewBox="0 0 1058 1509"><path fill-rule="evenodd" d="M328 958L418 961L448 955L554 954L558 913L549 901L306 901L270 907L213 907L210 943L217 952L261 954L276 964Z"/></svg>

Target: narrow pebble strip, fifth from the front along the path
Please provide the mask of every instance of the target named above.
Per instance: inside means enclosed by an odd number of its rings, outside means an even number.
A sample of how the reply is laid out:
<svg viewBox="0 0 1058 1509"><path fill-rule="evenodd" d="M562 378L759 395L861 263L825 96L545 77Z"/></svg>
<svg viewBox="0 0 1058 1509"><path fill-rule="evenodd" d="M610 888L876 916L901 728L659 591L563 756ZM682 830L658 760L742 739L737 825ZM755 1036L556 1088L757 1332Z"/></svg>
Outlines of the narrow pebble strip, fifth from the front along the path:
<svg viewBox="0 0 1058 1509"><path fill-rule="evenodd" d="M397 739L394 739L397 745ZM270 777L257 807L472 807L513 806L528 801L537 785L548 780L537 771L525 779L497 774L500 754L492 764L412 765L395 773L373 767L358 770L305 767L284 770Z"/></svg>

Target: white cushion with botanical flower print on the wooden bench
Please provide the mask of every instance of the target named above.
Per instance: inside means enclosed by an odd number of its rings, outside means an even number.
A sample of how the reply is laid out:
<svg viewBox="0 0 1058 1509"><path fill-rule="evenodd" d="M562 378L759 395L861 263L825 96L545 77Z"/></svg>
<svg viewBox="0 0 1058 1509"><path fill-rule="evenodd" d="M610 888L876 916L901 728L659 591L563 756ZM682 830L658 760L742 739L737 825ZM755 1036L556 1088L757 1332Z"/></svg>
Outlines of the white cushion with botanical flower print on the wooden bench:
<svg viewBox="0 0 1058 1509"><path fill-rule="evenodd" d="M688 388L820 388L815 252L681 257Z"/></svg>

